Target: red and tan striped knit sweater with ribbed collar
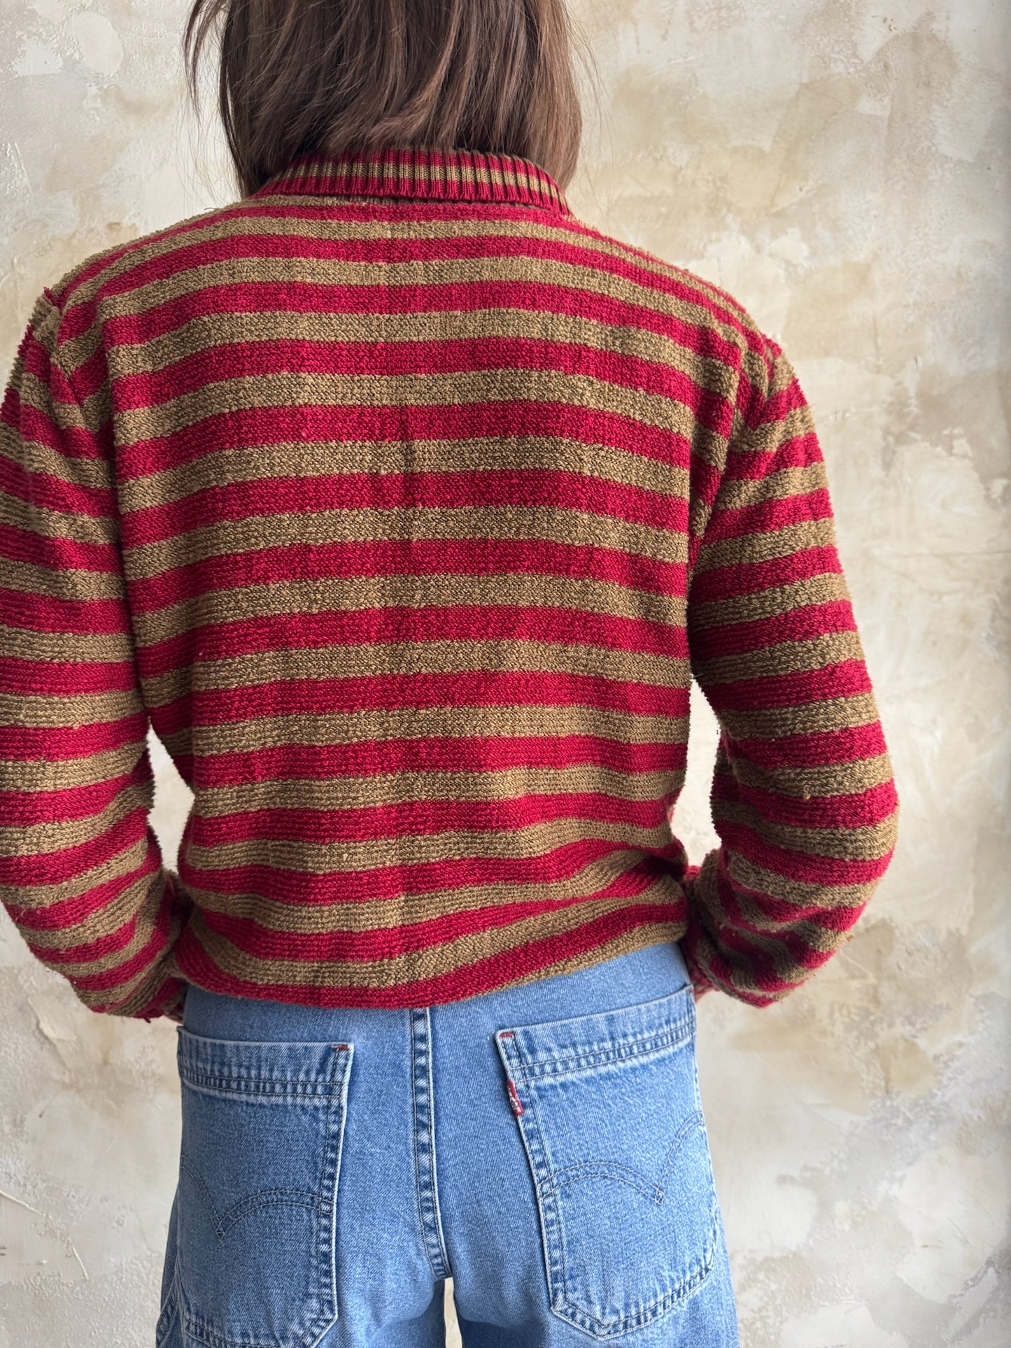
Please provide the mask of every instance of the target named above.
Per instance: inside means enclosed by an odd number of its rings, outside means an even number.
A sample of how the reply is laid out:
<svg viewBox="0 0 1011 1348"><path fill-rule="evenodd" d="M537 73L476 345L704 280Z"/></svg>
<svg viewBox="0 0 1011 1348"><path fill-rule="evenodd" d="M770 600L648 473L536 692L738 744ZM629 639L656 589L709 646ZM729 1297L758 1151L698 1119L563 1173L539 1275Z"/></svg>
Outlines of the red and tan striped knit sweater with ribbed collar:
<svg viewBox="0 0 1011 1348"><path fill-rule="evenodd" d="M659 941L762 1007L848 938L898 798L809 406L535 163L303 154L94 253L0 423L0 896L93 1011L425 1006Z"/></svg>

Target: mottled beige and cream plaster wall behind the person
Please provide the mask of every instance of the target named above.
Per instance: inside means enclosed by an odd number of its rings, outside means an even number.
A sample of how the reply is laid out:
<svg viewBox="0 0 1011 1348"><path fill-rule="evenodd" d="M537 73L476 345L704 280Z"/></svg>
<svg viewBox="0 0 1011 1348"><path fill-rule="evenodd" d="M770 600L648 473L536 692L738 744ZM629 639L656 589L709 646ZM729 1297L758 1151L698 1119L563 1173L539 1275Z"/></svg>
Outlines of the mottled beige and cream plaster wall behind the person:
<svg viewBox="0 0 1011 1348"><path fill-rule="evenodd" d="M185 0L4 0L0 341L88 253L231 200ZM569 200L736 295L814 408L903 802L855 938L700 1006L744 1348L1011 1336L1008 104L999 0L573 0ZM697 704L678 830L712 845ZM190 797L160 745L173 856ZM147 1348L178 1161L168 1022L94 1016L0 913L0 1348Z"/></svg>

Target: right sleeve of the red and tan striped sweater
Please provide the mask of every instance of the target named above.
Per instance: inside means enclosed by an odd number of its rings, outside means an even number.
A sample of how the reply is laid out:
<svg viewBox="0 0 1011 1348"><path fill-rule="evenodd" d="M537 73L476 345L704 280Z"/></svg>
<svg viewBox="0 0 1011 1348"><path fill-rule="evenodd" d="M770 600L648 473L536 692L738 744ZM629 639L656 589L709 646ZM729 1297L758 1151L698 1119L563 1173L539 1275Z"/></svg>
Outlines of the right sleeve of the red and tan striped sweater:
<svg viewBox="0 0 1011 1348"><path fill-rule="evenodd" d="M720 845L685 875L682 940L698 992L758 1007L849 938L899 814L811 411L766 344L689 588L692 673L720 723Z"/></svg>

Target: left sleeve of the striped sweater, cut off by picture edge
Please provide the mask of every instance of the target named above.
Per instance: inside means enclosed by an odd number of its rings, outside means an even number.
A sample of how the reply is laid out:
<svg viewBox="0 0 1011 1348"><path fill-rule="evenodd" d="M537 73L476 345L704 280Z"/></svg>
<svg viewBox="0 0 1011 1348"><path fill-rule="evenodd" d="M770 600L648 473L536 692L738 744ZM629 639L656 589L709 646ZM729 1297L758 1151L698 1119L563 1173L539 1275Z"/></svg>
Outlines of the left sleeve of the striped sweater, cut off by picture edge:
<svg viewBox="0 0 1011 1348"><path fill-rule="evenodd" d="M181 1022L190 905L147 822L111 425L71 386L61 317L46 290L0 408L0 899L92 1011Z"/></svg>

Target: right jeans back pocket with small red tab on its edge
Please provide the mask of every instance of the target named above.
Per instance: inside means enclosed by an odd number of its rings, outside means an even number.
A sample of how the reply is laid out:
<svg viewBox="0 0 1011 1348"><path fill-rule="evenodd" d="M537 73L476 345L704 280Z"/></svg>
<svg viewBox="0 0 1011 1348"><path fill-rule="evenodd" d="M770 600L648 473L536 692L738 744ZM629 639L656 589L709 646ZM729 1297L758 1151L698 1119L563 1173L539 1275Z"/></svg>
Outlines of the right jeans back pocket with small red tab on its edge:
<svg viewBox="0 0 1011 1348"><path fill-rule="evenodd" d="M702 1285L720 1240L692 988L495 1038L551 1310L594 1339L669 1314Z"/></svg>

